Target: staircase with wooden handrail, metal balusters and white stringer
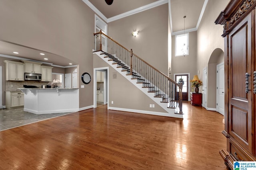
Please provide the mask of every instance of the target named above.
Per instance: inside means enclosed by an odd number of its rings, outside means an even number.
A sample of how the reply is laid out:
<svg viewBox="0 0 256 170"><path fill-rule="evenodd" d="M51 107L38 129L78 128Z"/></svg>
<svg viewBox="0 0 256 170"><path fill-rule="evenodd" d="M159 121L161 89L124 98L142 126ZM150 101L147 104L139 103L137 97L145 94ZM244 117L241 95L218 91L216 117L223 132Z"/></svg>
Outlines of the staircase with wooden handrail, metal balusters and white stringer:
<svg viewBox="0 0 256 170"><path fill-rule="evenodd" d="M166 110L167 113L160 115L183 117L182 84L176 83L135 55L132 49L126 49L101 31L94 33L94 37L94 53Z"/></svg>

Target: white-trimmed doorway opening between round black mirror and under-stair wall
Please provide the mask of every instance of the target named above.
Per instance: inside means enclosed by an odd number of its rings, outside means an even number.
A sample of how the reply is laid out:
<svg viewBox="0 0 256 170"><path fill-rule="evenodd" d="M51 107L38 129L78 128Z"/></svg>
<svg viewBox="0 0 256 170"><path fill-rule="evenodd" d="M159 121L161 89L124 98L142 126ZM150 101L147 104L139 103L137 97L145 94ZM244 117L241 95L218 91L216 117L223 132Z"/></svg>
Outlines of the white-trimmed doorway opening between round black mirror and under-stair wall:
<svg viewBox="0 0 256 170"><path fill-rule="evenodd" d="M94 68L94 108L108 104L108 67Z"/></svg>

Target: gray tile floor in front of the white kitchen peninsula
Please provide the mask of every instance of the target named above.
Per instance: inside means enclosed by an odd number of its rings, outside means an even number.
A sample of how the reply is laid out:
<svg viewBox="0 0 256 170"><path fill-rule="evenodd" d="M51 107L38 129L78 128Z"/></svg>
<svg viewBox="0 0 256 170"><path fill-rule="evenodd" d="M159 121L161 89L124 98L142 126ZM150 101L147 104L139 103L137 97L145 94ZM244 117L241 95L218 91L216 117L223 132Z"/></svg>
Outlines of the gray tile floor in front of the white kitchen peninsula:
<svg viewBox="0 0 256 170"><path fill-rule="evenodd" d="M38 121L43 121L46 119L51 119L54 117L67 115L67 114L69 113L53 113L53 114L37 115L34 113L23 111L23 108L0 109L0 131L12 129L14 127L19 127L19 126L27 125L30 123L35 123Z"/></svg>

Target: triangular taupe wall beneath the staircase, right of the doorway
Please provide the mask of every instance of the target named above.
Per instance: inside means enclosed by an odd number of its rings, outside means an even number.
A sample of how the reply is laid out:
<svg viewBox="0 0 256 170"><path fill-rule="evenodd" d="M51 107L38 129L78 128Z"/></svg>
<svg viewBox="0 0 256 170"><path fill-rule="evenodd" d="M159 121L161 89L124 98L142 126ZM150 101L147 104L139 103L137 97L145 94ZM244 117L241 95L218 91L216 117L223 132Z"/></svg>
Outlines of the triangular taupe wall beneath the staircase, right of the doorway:
<svg viewBox="0 0 256 170"><path fill-rule="evenodd" d="M119 74L114 68L109 66L97 55L94 55L94 68L109 67L109 106L126 108L126 109L137 109L146 111L156 111L166 113L166 111L160 107L151 98L146 96L141 90L129 82L122 74ZM117 74L116 78L113 78L113 73ZM111 101L114 104L111 104ZM154 104L154 108L150 108L149 104ZM166 105L167 107L167 105Z"/></svg>

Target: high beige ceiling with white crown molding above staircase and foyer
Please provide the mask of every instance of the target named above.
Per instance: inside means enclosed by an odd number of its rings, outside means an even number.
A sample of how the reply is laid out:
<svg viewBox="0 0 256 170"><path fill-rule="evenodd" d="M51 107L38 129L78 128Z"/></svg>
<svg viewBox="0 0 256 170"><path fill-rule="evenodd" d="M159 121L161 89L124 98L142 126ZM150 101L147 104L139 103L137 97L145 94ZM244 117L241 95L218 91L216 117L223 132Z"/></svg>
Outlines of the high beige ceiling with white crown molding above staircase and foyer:
<svg viewBox="0 0 256 170"><path fill-rule="evenodd" d="M168 4L170 1L171 29L172 35L184 30L195 31L200 22L204 8L208 0L114 0L111 5L106 4L105 0L83 0L90 6L92 4L102 15L106 22L117 20L121 17L135 14L158 5ZM89 3L88 3L89 2ZM93 9L92 6L92 9ZM98 13L98 15L100 15Z"/></svg>

